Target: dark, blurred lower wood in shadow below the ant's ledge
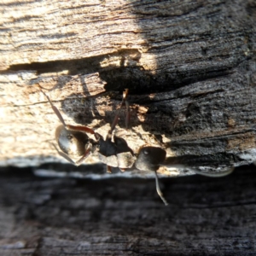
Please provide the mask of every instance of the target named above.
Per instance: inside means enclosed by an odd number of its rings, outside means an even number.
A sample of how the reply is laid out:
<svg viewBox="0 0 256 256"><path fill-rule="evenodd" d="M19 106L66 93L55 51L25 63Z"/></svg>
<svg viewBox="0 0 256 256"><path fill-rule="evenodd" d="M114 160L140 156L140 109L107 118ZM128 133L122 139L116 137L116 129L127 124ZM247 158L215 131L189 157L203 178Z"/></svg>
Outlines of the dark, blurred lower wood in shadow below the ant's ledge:
<svg viewBox="0 0 256 256"><path fill-rule="evenodd" d="M2 170L3 171L3 170ZM0 254L254 255L256 169L91 181L0 173ZM9 174L8 174L9 173Z"/></svg>

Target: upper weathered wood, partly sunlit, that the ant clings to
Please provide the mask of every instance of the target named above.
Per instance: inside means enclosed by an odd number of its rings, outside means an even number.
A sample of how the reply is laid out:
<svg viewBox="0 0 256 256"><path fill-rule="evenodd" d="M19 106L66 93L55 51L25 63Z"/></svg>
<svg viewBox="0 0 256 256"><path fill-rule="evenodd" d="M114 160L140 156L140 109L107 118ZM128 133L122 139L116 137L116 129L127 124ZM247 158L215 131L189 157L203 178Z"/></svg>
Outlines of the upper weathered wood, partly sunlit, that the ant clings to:
<svg viewBox="0 0 256 256"><path fill-rule="evenodd" d="M67 123L103 134L129 88L125 139L135 151L165 147L177 157L169 163L221 170L256 159L253 1L4 1L0 9L2 166L57 160L49 142L58 120L38 84L53 88Z"/></svg>

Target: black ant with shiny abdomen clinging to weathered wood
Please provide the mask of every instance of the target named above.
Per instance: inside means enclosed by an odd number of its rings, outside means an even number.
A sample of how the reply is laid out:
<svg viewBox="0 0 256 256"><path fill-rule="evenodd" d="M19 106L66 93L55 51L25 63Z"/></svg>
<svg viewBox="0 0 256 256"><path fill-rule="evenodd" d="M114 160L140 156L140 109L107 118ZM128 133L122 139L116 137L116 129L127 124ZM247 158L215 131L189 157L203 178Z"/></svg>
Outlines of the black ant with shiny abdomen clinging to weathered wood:
<svg viewBox="0 0 256 256"><path fill-rule="evenodd" d="M44 93L43 90L41 91ZM123 92L123 99L120 104L120 108L115 114L111 129L108 131L106 139L89 127L81 125L67 125L58 108L56 108L51 102L49 96L45 93L44 96L47 97L51 108L62 124L55 130L55 139L59 148L61 148L61 151L58 150L58 148L56 149L62 157L74 165L79 166L91 153L94 153L97 150L99 160L107 165L108 172L111 172L111 167L119 167L122 172L124 172L125 169L132 167L136 167L141 171L152 171L155 174L156 191L165 205L168 205L160 190L157 176L157 170L159 169L160 164L166 159L166 150L158 147L143 146L139 149L137 154L134 154L124 138L113 135L113 130L119 121L119 110L122 108L124 103L126 106L126 129L128 127L128 120L130 117L129 103L127 101L128 89L125 89ZM95 140L90 139L87 133L93 135ZM77 157L79 157L79 160L72 160L72 158Z"/></svg>

